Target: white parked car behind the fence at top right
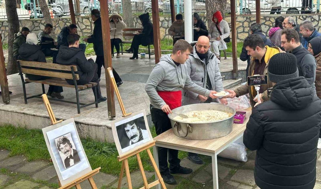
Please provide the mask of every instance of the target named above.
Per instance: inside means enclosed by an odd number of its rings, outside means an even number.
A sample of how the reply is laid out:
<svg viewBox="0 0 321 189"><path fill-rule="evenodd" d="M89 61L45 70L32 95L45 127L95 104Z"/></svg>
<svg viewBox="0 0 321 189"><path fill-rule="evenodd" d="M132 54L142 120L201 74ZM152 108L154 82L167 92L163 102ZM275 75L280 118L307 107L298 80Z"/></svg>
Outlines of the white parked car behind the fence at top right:
<svg viewBox="0 0 321 189"><path fill-rule="evenodd" d="M299 14L301 13L302 0L280 0L281 13L285 14ZM242 14L255 14L256 6L255 0L242 0ZM268 4L266 0L260 0L261 14L270 14L271 4ZM316 12L316 8L306 7L304 11ZM236 11L240 13L240 2L237 6Z"/></svg>

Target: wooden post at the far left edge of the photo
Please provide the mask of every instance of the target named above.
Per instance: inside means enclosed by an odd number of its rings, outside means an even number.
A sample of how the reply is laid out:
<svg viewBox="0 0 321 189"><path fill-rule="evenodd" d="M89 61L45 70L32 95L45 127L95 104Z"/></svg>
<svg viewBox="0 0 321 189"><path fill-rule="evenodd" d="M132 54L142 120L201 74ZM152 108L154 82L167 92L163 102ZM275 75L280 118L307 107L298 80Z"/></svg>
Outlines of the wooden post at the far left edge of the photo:
<svg viewBox="0 0 321 189"><path fill-rule="evenodd" d="M10 103L9 86L8 86L7 74L5 72L4 55L3 55L1 39L0 39L0 85L1 85L2 100L4 103L9 104Z"/></svg>

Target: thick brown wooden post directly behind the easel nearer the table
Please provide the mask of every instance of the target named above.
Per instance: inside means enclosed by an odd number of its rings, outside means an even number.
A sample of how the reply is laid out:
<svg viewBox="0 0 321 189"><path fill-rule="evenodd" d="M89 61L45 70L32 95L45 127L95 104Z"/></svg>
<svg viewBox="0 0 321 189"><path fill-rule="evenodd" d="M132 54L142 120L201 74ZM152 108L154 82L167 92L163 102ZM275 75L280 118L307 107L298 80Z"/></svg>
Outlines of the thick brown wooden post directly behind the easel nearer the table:
<svg viewBox="0 0 321 189"><path fill-rule="evenodd" d="M101 16L102 40L103 40L103 47L104 47L104 61L105 61L104 64L105 64L105 76L106 76L108 118L114 118L116 117L114 88L111 83L110 77L108 75L108 69L107 69L108 67L112 68L110 27L109 27L109 19L108 19L107 0L100 1L100 16ZM155 52L155 58L156 58L156 52Z"/></svg>

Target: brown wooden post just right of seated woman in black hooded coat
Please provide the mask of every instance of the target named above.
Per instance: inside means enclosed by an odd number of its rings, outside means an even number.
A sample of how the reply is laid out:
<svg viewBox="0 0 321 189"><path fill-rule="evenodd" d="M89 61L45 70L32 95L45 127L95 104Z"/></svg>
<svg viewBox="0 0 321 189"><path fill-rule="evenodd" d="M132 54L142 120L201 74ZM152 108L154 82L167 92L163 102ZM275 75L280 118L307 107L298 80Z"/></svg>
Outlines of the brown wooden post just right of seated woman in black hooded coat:
<svg viewBox="0 0 321 189"><path fill-rule="evenodd" d="M153 18L153 32L154 32L155 64L157 64L159 63L160 57L161 57L160 20L159 20L158 1L152 1L152 18Z"/></svg>

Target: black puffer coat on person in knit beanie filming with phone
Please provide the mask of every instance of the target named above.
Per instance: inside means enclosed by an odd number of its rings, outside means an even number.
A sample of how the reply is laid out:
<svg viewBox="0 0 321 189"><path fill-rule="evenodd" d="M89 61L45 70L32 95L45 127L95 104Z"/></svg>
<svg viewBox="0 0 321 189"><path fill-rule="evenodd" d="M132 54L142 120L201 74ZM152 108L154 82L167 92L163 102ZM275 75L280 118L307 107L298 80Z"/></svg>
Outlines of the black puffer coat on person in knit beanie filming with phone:
<svg viewBox="0 0 321 189"><path fill-rule="evenodd" d="M261 189L313 189L320 123L321 100L304 77L277 83L271 100L253 108L243 142L257 150Z"/></svg>

